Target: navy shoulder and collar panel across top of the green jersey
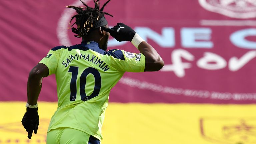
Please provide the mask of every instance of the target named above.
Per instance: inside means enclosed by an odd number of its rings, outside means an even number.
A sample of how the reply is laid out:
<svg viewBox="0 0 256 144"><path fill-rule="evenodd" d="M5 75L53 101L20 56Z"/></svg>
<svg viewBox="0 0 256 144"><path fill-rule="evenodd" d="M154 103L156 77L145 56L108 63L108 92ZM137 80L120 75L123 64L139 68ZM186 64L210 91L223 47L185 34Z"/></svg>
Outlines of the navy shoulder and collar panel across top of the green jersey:
<svg viewBox="0 0 256 144"><path fill-rule="evenodd" d="M56 51L56 50L60 50L60 49L67 49L68 48L68 51L71 51L73 49L79 49L79 50L82 50L82 51L87 51L87 50L93 50L97 53L100 53L100 54L103 54L103 55L109 55L109 56L113 56L114 58L116 59L121 59L121 60L125 60L124 58L124 54L121 50L109 50L109 51L104 51L102 49L99 48L98 46L98 43L96 42L91 42L90 44L86 44L86 45L83 45L83 44L78 44L78 45L73 45L73 46L70 46L70 47L67 47L67 46L56 46L54 48L52 48L53 51Z"/></svg>

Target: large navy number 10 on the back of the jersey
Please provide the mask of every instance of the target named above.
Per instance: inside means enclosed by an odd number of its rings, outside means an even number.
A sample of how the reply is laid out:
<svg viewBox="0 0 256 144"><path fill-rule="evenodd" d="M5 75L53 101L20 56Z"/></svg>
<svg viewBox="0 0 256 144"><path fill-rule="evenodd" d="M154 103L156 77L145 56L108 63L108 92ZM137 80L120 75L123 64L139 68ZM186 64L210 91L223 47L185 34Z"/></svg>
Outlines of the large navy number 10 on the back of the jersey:
<svg viewBox="0 0 256 144"><path fill-rule="evenodd" d="M77 91L76 79L77 79L77 75L78 75L78 67L70 66L68 72L72 73L72 77L71 77L71 81L70 81L70 101L75 101L76 93L77 93L76 92ZM87 96L85 93L86 77L88 74L93 74L94 79L95 79L94 90L90 96ZM87 101L91 98L98 96L100 93L100 88L101 88L101 76L100 76L99 71L92 67L86 68L80 76L81 100Z"/></svg>

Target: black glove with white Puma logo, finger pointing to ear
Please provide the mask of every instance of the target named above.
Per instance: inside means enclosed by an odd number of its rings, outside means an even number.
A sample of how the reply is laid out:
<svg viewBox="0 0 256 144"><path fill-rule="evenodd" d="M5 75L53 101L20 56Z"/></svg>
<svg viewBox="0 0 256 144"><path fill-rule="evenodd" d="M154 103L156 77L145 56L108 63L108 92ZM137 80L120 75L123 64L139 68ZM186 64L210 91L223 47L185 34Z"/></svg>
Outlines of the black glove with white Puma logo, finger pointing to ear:
<svg viewBox="0 0 256 144"><path fill-rule="evenodd" d="M123 23L118 23L111 29L106 27L101 27L101 29L109 32L110 35L119 42L132 41L132 38L136 34L136 32L132 28Z"/></svg>

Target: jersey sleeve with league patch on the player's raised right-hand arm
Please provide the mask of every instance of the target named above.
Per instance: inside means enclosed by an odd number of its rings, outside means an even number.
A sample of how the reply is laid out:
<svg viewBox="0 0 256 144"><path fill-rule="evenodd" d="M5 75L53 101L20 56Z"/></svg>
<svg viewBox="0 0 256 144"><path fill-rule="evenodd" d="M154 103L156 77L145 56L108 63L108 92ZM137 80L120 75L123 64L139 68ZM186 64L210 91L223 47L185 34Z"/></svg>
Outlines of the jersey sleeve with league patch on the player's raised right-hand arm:
<svg viewBox="0 0 256 144"><path fill-rule="evenodd" d="M141 53L130 53L124 50L109 50L112 56L111 66L119 71L144 72L145 56Z"/></svg>

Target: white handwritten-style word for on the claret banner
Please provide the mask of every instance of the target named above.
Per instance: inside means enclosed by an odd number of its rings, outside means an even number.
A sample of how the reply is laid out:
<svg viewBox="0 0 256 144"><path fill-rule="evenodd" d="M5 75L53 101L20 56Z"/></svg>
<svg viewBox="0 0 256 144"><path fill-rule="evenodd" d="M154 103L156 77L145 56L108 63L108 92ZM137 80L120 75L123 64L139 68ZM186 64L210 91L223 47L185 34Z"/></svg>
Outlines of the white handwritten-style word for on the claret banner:
<svg viewBox="0 0 256 144"><path fill-rule="evenodd" d="M255 57L256 51L249 51L240 59L237 57L231 57L228 63L228 68L230 71L237 71ZM191 68L191 63L182 62L181 58L184 58L188 61L194 60L194 56L188 51L183 49L175 49L171 54L172 64L164 65L160 71L173 71L177 77L184 77L185 69ZM205 52L204 57L197 61L197 66L202 69L217 70L225 68L227 66L227 62L224 58L217 54Z"/></svg>

